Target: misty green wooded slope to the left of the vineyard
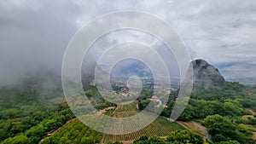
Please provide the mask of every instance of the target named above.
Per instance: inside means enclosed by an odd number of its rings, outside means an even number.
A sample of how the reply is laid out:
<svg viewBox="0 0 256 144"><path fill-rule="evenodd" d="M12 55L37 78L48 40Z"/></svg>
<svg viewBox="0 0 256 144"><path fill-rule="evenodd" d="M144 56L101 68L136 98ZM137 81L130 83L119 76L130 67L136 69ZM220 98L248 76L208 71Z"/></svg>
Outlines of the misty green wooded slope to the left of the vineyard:
<svg viewBox="0 0 256 144"><path fill-rule="evenodd" d="M55 89L41 93L36 86L0 89L0 143L38 143L73 113Z"/></svg>

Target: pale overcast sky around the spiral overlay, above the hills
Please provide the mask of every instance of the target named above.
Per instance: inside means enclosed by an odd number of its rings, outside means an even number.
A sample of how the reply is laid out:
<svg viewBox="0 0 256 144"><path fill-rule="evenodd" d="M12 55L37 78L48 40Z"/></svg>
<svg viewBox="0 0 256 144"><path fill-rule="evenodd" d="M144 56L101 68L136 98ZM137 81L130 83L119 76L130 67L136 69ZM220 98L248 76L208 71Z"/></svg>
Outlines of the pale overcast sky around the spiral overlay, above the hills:
<svg viewBox="0 0 256 144"><path fill-rule="evenodd" d="M102 14L120 10L166 20L183 38L192 60L207 60L224 78L256 78L255 8L253 0L1 0L0 84L42 69L61 73L75 32ZM148 41L140 36L111 33L96 46L101 49L127 37Z"/></svg>

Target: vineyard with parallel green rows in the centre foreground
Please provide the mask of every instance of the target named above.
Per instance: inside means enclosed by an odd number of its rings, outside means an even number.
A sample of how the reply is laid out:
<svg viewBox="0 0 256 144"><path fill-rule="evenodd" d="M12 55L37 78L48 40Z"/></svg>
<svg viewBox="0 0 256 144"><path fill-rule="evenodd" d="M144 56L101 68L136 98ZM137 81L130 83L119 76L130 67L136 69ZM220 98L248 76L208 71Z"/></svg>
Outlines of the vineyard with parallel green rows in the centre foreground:
<svg viewBox="0 0 256 144"><path fill-rule="evenodd" d="M114 109L114 110L113 110ZM139 112L136 103L131 103L128 105L119 105L118 107L112 107L110 110L106 109L108 115L117 118L125 118L135 115ZM90 122L90 117L84 117ZM145 115L145 119L148 116ZM95 118L91 118L91 121L96 121ZM101 126L102 124L96 124ZM112 126L117 126L118 124L112 124ZM125 125L126 128L135 127L136 125ZM107 141L122 141L123 143L132 143L132 141L137 140L143 135L148 137L151 136L161 136L165 137L169 135L172 130L183 130L183 126L177 124L176 122L170 122L166 118L159 117L154 120L153 123L149 124L142 130L136 132L125 134L125 135L108 135L92 130L89 127L82 124L78 118L70 120L67 124L63 125L58 130L50 133L46 136L44 140L41 141L42 144L48 143L58 143L58 141L66 141L66 143L88 143L88 142L101 142L106 143Z"/></svg>

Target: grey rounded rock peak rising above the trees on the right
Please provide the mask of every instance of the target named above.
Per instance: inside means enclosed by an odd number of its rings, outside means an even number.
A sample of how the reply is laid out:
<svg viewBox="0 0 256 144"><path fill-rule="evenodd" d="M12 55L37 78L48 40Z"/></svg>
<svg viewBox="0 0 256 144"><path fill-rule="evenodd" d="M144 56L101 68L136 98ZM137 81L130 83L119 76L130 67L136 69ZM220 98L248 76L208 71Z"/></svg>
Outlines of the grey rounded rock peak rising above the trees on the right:
<svg viewBox="0 0 256 144"><path fill-rule="evenodd" d="M194 87L224 88L225 79L218 69L207 63L206 60L193 60Z"/></svg>

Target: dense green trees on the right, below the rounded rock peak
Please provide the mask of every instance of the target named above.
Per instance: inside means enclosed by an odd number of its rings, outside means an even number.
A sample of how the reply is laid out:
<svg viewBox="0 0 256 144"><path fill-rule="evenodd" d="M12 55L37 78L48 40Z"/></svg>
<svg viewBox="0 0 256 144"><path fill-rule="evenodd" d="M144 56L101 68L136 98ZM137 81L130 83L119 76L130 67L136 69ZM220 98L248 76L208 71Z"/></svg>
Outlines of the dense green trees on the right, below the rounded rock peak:
<svg viewBox="0 0 256 144"><path fill-rule="evenodd" d="M170 95L162 116L170 116L175 97ZM194 88L189 104L178 119L201 119L199 121L208 128L215 143L253 143L251 130L256 127L256 119L253 118L254 112L247 112L246 108L255 111L255 107L256 90L253 87L227 82L224 89ZM241 119L248 114L252 116ZM215 119L211 121L212 118ZM247 124L251 125L250 129Z"/></svg>

